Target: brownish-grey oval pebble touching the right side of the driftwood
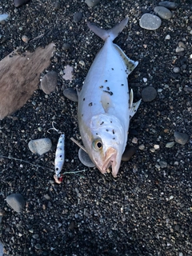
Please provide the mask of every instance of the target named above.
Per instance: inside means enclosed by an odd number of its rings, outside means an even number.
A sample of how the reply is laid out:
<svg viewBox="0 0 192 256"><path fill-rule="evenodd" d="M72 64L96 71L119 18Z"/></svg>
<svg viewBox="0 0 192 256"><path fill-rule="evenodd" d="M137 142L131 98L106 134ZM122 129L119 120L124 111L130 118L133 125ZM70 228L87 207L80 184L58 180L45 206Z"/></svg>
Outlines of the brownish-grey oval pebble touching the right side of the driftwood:
<svg viewBox="0 0 192 256"><path fill-rule="evenodd" d="M54 92L56 86L58 85L58 73L55 71L50 71L45 74L42 78L41 88L45 94L50 94Z"/></svg>

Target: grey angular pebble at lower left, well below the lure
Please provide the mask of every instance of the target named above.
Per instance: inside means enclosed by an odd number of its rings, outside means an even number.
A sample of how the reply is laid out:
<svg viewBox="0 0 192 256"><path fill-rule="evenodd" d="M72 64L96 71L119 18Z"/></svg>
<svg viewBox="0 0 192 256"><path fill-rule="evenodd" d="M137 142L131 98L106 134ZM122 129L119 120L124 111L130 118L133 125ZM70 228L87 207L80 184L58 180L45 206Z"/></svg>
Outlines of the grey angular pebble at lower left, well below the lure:
<svg viewBox="0 0 192 256"><path fill-rule="evenodd" d="M17 213L20 213L22 209L26 206L26 202L22 197L22 194L10 194L6 197L6 202Z"/></svg>

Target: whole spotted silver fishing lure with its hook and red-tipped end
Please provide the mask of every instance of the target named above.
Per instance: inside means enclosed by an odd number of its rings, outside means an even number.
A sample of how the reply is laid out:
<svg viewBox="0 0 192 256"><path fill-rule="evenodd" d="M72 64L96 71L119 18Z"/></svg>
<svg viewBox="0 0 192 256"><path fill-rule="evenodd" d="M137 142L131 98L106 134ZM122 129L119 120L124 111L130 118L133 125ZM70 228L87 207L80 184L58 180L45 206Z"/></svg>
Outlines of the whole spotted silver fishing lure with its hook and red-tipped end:
<svg viewBox="0 0 192 256"><path fill-rule="evenodd" d="M58 138L58 144L57 144L57 149L55 152L55 158L54 158L54 180L58 184L62 182L63 176L61 173L62 171L62 166L65 162L65 134L62 134L58 129L54 127L54 123L52 122L53 128L50 128L49 130L56 130L58 134L61 134L60 137ZM48 132L49 132L48 130Z"/></svg>

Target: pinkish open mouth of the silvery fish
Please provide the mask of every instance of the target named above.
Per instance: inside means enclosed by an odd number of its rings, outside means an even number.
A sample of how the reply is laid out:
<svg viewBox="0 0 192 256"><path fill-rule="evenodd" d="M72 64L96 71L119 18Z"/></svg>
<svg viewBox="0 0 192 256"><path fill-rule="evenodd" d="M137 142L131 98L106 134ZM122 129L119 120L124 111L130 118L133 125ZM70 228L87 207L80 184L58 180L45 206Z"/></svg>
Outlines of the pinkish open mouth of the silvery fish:
<svg viewBox="0 0 192 256"><path fill-rule="evenodd" d="M105 162L101 169L102 174L105 174L106 170L110 168L110 166L112 167L112 174L115 173L115 167L117 166L117 154L117 150L115 150L113 147L110 147L108 150L106 150Z"/></svg>

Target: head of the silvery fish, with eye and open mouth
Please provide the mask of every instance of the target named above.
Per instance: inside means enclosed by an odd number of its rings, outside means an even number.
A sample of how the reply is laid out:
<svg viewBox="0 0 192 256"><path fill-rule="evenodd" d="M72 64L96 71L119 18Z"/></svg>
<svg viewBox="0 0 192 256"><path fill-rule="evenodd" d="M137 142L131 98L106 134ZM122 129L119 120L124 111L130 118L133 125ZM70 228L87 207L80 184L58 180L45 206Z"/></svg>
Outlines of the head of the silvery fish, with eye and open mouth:
<svg viewBox="0 0 192 256"><path fill-rule="evenodd" d="M88 136L82 134L87 154L102 174L111 167L112 174L116 177L127 139L121 122L113 115L98 114L91 118L88 129Z"/></svg>

